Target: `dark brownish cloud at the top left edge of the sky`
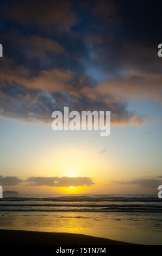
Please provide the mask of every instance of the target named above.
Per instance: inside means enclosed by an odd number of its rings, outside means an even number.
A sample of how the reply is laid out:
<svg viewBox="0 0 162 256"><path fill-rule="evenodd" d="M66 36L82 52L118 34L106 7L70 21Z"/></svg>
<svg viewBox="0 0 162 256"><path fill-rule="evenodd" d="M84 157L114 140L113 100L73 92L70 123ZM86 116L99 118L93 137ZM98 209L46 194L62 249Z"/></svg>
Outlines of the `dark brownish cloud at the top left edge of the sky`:
<svg viewBox="0 0 162 256"><path fill-rule="evenodd" d="M1 14L9 20L23 25L34 25L40 28L57 27L59 31L69 31L76 23L76 17L70 8L70 1L14 1Z"/></svg>

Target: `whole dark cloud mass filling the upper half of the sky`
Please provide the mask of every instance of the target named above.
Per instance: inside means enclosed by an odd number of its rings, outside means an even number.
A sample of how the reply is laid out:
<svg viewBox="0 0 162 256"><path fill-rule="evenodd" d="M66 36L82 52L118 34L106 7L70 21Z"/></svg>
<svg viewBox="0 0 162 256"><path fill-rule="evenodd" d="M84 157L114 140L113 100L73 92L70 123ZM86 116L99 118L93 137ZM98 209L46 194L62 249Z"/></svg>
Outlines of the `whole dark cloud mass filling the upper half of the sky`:
<svg viewBox="0 0 162 256"><path fill-rule="evenodd" d="M160 10L148 1L3 2L1 117L49 123L69 106L110 110L114 125L144 125L127 100L162 102Z"/></svg>

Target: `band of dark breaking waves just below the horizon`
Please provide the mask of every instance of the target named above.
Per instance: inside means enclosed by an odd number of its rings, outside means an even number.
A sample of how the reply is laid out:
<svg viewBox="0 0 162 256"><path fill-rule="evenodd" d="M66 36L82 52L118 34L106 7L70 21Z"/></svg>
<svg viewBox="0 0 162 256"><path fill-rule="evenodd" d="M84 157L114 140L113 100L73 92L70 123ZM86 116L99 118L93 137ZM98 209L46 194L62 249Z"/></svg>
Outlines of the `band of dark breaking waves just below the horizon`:
<svg viewBox="0 0 162 256"><path fill-rule="evenodd" d="M5 197L0 211L162 212L157 195Z"/></svg>

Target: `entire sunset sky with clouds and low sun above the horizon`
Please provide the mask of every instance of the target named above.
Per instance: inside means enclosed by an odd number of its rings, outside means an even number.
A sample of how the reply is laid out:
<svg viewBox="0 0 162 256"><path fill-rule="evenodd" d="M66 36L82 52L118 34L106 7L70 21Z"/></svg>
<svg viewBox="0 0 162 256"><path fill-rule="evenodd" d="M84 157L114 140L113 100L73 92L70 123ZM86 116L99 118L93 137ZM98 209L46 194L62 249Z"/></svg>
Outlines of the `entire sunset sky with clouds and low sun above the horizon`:
<svg viewBox="0 0 162 256"><path fill-rule="evenodd" d="M158 193L161 1L1 1L0 185L19 193ZM52 112L110 111L111 132Z"/></svg>

